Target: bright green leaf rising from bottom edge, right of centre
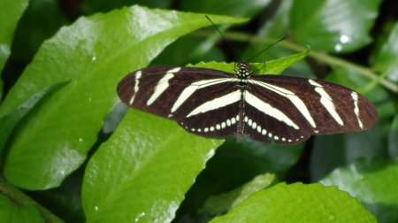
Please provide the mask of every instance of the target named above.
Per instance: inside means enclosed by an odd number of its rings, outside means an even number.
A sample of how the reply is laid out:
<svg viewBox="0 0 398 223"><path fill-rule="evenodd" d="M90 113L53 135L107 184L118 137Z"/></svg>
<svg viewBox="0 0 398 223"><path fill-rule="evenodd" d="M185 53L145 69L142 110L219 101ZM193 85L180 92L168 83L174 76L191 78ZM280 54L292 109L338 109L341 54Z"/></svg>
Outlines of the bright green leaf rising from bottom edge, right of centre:
<svg viewBox="0 0 398 223"><path fill-rule="evenodd" d="M295 183L260 190L210 222L377 222L347 192L321 184Z"/></svg>

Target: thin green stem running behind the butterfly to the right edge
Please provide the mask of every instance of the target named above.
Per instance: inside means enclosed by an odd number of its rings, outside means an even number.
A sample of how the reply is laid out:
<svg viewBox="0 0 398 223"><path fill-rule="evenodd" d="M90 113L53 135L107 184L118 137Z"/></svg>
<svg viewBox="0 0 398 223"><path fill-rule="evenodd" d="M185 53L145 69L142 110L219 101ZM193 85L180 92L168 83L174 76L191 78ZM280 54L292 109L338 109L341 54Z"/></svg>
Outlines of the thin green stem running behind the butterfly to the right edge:
<svg viewBox="0 0 398 223"><path fill-rule="evenodd" d="M196 36L200 37L206 37L210 35L212 31L209 30L199 30L194 33ZM249 34L244 34L240 32L226 32L224 33L226 39L232 40L232 41L238 41L238 42L251 42L251 43L259 43L259 42L276 42L278 41L277 39L273 38L264 38L264 37L259 37L255 35L249 35ZM281 46L286 47L289 50L294 50L297 52L302 52L305 50L308 50L306 47L302 47L301 45L296 44L295 42L291 41L284 41L284 42L279 42L278 43ZM390 89L393 92L398 92L398 85L394 84L391 81L388 81L386 79L380 79L379 75L377 73L374 73L370 68L362 66L362 65L356 65L355 63L349 62L347 60L341 59L341 58L336 58L333 56L330 56L328 54L324 54L315 50L310 50L309 57L315 58L319 61L325 62L327 65L331 66L342 66L346 67L352 70L355 70L356 72L370 78L371 80L379 80L380 84L383 85L385 88Z"/></svg>

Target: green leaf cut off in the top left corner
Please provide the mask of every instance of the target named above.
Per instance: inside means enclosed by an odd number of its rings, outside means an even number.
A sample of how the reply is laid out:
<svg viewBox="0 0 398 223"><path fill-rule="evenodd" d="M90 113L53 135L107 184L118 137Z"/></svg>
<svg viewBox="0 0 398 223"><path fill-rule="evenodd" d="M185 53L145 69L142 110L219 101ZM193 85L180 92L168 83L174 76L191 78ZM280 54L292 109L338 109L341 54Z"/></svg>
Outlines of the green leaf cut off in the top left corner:
<svg viewBox="0 0 398 223"><path fill-rule="evenodd" d="M11 42L17 22L27 8L27 0L0 1L0 70L11 54Z"/></svg>

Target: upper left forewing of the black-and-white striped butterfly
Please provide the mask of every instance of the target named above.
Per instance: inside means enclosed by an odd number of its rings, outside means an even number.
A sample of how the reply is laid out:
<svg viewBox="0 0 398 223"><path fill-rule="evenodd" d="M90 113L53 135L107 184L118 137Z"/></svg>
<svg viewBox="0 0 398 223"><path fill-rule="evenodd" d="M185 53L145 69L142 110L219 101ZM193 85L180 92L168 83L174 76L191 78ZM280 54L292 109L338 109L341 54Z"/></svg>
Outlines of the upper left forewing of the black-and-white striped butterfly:
<svg viewBox="0 0 398 223"><path fill-rule="evenodd" d="M117 90L121 101L130 107L178 119L179 115L184 115L195 106L192 102L210 99L206 95L198 98L198 88L218 83L222 88L229 84L226 78L231 78L231 74L228 74L210 69L155 66L128 74L119 82ZM196 96L191 96L193 94Z"/></svg>

